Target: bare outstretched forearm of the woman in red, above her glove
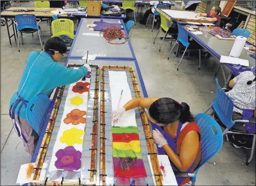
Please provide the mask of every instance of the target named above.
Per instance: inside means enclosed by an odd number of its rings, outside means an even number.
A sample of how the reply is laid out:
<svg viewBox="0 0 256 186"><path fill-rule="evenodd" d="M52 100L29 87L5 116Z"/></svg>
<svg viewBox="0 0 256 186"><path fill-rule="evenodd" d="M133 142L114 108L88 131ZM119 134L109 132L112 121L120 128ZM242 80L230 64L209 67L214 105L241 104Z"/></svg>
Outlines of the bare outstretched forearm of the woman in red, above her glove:
<svg viewBox="0 0 256 186"><path fill-rule="evenodd" d="M125 111L136 107L149 108L150 105L159 98L134 98L124 105Z"/></svg>

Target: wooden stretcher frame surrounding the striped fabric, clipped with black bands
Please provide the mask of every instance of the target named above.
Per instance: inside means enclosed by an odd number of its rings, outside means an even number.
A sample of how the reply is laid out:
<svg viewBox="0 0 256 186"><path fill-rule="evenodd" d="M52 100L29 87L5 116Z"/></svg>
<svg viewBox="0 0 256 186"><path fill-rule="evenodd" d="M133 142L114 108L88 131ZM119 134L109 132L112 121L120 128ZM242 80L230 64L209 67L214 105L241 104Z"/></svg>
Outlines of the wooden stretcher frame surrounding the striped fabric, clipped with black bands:
<svg viewBox="0 0 256 186"><path fill-rule="evenodd" d="M106 155L105 155L105 87L104 87L104 69L113 69L113 70L130 70L131 77L132 77L132 83L134 87L134 91L136 94L136 97L140 97L140 89L138 86L138 82L136 80L136 74L133 70L133 67L129 66L102 66L101 67L101 100L100 100L100 174L99 174L99 182L100 185L106 185L105 184L105 176L106 175ZM147 115L144 108L139 107L140 111L140 117L143 124L143 129L145 133L145 137L147 139L147 146L149 151L150 160L153 167L153 173L156 180L157 186L162 186L163 176L161 173L161 169L159 166L158 158L157 158L157 151L154 146L153 136L150 131L149 122L147 119Z"/></svg>

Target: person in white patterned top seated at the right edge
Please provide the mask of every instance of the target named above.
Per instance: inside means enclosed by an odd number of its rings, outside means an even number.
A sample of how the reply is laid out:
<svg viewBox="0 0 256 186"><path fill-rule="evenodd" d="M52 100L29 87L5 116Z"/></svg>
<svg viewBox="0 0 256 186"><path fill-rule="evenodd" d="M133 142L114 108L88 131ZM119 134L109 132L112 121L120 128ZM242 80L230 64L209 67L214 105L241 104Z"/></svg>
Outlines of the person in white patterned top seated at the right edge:
<svg viewBox="0 0 256 186"><path fill-rule="evenodd" d="M243 111L241 109L254 110L254 118L256 117L256 76L252 71L244 71L234 79L232 79L228 86L232 88L227 92L227 95L232 99L234 103L234 110L232 120L243 119ZM239 108L236 108L239 107ZM235 123L232 127L234 130L247 132L244 123ZM233 141L232 145L236 148L252 148L252 136L251 135L232 135L230 138Z"/></svg>

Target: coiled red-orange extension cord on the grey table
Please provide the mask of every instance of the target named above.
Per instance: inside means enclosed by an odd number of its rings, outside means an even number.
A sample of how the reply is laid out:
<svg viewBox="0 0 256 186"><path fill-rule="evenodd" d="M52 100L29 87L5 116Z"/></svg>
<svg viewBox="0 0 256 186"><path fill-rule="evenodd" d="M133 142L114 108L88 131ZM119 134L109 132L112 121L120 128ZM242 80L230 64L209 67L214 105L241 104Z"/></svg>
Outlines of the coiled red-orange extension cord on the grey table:
<svg viewBox="0 0 256 186"><path fill-rule="evenodd" d="M129 38L129 36L124 34L124 32L118 27L108 27L100 33L103 33L103 37L107 40L107 43L109 43L109 44L124 44L124 43L126 43L127 39ZM112 40L116 40L116 39L121 40L122 38L124 38L124 40L125 40L122 43L112 43L111 42Z"/></svg>

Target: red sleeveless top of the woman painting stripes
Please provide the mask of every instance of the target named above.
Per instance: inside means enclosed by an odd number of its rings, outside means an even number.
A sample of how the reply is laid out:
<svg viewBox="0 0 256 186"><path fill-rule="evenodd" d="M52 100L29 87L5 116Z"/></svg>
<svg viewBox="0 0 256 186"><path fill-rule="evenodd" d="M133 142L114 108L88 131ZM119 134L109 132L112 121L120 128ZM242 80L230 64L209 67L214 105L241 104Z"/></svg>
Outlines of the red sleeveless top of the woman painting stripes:
<svg viewBox="0 0 256 186"><path fill-rule="evenodd" d="M177 139L177 154L180 154L180 147L182 144L183 139L185 138L186 134L190 131L197 131L199 134L199 145L201 147L201 132L196 122L188 123L181 131L178 139Z"/></svg>

